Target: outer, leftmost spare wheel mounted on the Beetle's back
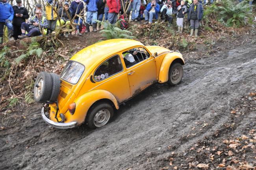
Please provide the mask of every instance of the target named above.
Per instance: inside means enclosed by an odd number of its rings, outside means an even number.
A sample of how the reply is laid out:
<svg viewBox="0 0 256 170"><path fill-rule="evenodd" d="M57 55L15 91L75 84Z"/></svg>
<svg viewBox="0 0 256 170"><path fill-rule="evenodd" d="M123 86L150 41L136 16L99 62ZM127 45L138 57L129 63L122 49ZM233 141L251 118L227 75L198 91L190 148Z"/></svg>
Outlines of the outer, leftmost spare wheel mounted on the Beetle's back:
<svg viewBox="0 0 256 170"><path fill-rule="evenodd" d="M35 80L34 100L44 103L50 100L52 94L52 76L48 72L40 72Z"/></svg>

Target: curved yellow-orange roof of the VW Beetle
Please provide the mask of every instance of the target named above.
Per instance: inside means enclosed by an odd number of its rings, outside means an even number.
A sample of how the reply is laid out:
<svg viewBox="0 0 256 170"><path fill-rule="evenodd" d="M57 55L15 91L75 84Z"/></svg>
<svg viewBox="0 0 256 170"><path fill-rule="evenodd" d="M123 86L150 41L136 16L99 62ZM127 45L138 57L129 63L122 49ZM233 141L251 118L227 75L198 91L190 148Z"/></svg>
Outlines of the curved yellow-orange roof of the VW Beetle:
<svg viewBox="0 0 256 170"><path fill-rule="evenodd" d="M143 44L131 39L110 39L101 41L83 48L71 57L70 60L82 63L85 66L85 70L87 70L92 66L95 67L95 65L98 65L107 57L137 45Z"/></svg>

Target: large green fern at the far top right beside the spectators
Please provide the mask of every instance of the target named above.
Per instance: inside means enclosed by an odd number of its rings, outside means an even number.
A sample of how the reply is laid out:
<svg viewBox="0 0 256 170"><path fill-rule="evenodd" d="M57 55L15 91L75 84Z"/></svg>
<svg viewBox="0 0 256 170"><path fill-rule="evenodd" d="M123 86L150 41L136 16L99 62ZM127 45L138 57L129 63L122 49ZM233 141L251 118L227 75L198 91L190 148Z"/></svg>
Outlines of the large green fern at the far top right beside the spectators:
<svg viewBox="0 0 256 170"><path fill-rule="evenodd" d="M234 3L231 0L222 0L222 6L217 7L219 16L226 21L226 25L230 27L239 27L245 24L245 18L250 16L250 5L247 1Z"/></svg>

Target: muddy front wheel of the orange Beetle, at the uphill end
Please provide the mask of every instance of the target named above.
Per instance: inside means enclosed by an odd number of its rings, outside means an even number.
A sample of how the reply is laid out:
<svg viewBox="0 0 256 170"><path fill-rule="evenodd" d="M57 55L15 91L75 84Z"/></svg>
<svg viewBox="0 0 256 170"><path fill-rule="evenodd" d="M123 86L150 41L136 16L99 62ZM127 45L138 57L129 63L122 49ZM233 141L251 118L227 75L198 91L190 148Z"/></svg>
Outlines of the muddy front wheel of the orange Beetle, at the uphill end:
<svg viewBox="0 0 256 170"><path fill-rule="evenodd" d="M168 81L170 86L175 86L180 83L183 77L183 68L180 63L174 63L169 68Z"/></svg>

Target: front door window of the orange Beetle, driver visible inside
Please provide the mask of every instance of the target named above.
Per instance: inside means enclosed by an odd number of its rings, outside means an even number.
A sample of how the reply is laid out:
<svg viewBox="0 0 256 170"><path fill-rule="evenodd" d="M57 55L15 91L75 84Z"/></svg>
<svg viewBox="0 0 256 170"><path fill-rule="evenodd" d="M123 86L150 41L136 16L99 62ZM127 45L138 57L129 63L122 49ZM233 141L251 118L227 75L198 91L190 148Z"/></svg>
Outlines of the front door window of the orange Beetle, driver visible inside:
<svg viewBox="0 0 256 170"><path fill-rule="evenodd" d="M141 54L139 48L132 48L122 53L126 68L132 67L133 65L143 61L146 57Z"/></svg>

